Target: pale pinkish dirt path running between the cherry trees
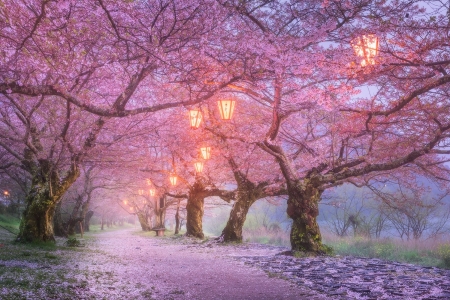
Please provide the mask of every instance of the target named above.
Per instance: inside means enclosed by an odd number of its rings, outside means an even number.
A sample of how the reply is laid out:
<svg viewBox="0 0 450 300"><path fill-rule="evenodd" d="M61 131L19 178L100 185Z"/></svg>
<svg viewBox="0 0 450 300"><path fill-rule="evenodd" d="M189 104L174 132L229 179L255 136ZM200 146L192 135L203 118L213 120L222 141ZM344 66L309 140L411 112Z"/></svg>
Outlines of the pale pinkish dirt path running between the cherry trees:
<svg viewBox="0 0 450 300"><path fill-rule="evenodd" d="M273 255L279 249L195 244L137 232L105 232L88 242L90 252L77 266L80 276L90 274L80 298L320 299L233 258Z"/></svg>

